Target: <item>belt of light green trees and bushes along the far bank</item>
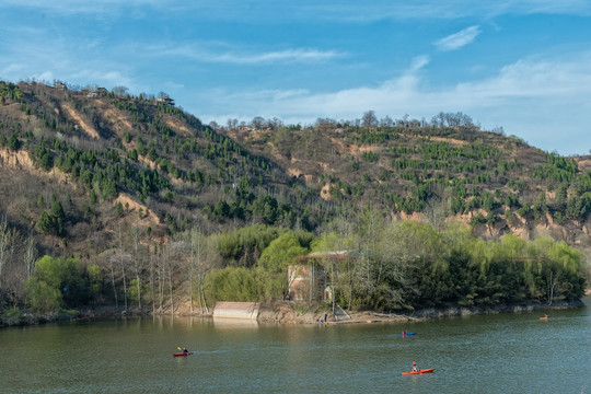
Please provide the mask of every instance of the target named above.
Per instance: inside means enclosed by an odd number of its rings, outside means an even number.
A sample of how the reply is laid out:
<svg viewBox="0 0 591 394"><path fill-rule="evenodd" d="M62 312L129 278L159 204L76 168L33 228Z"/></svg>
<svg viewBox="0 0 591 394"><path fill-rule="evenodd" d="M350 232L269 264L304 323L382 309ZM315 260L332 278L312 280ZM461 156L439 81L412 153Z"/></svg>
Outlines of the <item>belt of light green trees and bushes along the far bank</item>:
<svg viewBox="0 0 591 394"><path fill-rule="evenodd" d="M552 305L580 299L586 288L584 256L564 242L513 234L485 241L459 222L438 231L371 209L333 221L318 236L262 224L211 234L194 228L144 247L134 237L139 233L121 233L120 248L102 266L37 259L15 300L39 315L89 305L207 313L216 301L273 303L288 294L288 266L301 264L297 257L334 251L347 257L314 264L349 311Z"/></svg>

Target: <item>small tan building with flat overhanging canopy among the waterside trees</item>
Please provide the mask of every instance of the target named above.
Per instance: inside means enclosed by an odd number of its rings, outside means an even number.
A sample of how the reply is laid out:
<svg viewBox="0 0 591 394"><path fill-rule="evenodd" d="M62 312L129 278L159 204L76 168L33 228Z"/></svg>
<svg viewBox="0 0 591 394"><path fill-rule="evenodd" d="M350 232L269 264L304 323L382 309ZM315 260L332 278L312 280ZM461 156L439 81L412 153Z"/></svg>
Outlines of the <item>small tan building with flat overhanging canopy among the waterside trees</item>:
<svg viewBox="0 0 591 394"><path fill-rule="evenodd" d="M293 301L327 301L333 298L328 286L329 274L324 270L327 259L341 260L348 258L347 251L314 252L298 257L288 267L288 297Z"/></svg>

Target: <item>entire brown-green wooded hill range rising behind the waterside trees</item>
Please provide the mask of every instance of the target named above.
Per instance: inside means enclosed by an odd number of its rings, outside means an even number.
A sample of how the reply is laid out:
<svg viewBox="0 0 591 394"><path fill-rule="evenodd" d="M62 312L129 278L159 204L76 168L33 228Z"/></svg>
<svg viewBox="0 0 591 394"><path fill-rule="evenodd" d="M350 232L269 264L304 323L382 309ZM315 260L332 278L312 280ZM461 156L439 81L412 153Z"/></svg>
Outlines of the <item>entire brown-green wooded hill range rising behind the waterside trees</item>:
<svg viewBox="0 0 591 394"><path fill-rule="evenodd" d="M125 92L0 82L0 212L42 253L100 254L121 223L154 242L194 225L314 231L366 206L436 229L455 217L485 237L591 243L591 158L543 152L463 114L218 126Z"/></svg>

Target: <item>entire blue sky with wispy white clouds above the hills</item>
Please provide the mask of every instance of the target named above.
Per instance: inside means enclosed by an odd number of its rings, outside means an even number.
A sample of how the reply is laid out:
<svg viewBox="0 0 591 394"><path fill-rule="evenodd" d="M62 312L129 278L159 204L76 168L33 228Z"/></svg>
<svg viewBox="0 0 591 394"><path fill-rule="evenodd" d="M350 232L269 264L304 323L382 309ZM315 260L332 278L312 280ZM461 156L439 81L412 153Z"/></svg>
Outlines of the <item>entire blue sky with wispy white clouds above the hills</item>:
<svg viewBox="0 0 591 394"><path fill-rule="evenodd" d="M0 79L165 92L201 120L463 112L591 150L591 1L2 0Z"/></svg>

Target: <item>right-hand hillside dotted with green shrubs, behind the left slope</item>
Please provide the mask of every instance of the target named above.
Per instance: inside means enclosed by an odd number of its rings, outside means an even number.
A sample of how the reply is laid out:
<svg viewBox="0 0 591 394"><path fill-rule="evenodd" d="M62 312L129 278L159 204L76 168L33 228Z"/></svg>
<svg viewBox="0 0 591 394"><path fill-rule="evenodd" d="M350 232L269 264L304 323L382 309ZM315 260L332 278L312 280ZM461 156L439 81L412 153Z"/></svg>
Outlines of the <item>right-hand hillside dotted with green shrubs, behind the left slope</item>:
<svg viewBox="0 0 591 394"><path fill-rule="evenodd" d="M326 201L378 206L436 228L453 217L485 237L513 232L590 246L590 157L563 158L474 126L222 132Z"/></svg>

